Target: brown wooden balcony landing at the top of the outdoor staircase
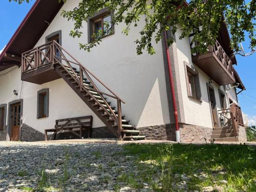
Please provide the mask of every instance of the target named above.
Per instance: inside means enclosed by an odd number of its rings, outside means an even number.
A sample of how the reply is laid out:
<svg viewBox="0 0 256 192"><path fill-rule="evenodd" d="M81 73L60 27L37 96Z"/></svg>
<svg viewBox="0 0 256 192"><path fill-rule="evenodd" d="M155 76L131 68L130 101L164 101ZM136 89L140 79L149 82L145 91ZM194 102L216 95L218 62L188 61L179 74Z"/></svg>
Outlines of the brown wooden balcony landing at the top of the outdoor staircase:
<svg viewBox="0 0 256 192"><path fill-rule="evenodd" d="M61 78L54 70L54 46L48 42L22 54L22 80L42 84Z"/></svg>

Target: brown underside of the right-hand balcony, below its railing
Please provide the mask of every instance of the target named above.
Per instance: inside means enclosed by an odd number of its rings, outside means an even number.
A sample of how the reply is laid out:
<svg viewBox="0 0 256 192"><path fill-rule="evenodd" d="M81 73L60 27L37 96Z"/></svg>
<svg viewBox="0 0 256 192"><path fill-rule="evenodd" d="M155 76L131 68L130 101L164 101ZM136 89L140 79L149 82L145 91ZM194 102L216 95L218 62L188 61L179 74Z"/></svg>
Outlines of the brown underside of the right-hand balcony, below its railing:
<svg viewBox="0 0 256 192"><path fill-rule="evenodd" d="M213 52L192 56L192 61L220 86L236 82Z"/></svg>

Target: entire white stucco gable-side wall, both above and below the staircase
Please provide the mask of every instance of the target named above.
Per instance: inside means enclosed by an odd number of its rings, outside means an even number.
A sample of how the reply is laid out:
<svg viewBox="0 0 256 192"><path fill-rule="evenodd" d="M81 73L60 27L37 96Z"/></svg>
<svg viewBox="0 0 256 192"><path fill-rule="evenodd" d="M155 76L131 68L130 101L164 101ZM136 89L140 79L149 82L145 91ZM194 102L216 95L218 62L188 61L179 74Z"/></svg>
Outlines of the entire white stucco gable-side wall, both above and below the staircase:
<svg viewBox="0 0 256 192"><path fill-rule="evenodd" d="M62 9L74 9L78 2L78 0L68 1ZM101 44L88 53L79 50L78 45L79 42L88 42L87 23L83 25L82 37L74 39L69 36L73 23L67 22L60 16L60 13L61 11L35 47L45 44L46 36L49 34L61 30L62 47L126 102L122 104L122 114L126 116L126 119L131 120L131 124L143 127L169 123L161 42L154 44L156 49L154 56L146 52L138 56L134 41L139 37L139 28L132 29L130 35L125 36L121 34L124 25L118 25L115 26L114 35L103 38ZM2 79L0 89L6 94L0 95L0 104L19 98L19 95L14 96L12 91L16 89L20 94L22 82L20 81L20 69L12 71ZM45 88L50 90L49 117L37 119L37 92ZM52 128L56 119L82 115L93 115L93 127L104 126L63 79L42 85L24 82L21 98L24 99L25 123L38 131L44 132L45 129ZM113 105L117 106L116 103Z"/></svg>

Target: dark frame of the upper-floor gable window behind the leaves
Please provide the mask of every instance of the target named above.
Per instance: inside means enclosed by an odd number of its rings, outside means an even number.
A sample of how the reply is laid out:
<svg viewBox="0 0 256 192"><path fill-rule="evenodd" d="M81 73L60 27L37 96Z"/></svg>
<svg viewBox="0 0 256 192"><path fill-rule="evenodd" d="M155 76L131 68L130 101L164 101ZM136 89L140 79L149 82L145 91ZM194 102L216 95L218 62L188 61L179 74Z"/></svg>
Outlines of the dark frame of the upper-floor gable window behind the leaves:
<svg viewBox="0 0 256 192"><path fill-rule="evenodd" d="M110 11L109 9L104 8L104 9L101 9L94 16L92 16L92 17L90 17L88 19L88 43L90 43L90 42L92 42L94 40L92 35L95 33L95 21L100 19L100 21L101 21L101 28L102 28L102 30L104 30L103 20L104 20L104 17L108 16L108 15L111 16L111 20L112 20L113 12ZM104 38L106 36L113 35L113 34L115 34L115 27L114 27L114 25L112 26L112 32L110 32L109 34L106 34L106 35L102 35L100 37L100 39Z"/></svg>

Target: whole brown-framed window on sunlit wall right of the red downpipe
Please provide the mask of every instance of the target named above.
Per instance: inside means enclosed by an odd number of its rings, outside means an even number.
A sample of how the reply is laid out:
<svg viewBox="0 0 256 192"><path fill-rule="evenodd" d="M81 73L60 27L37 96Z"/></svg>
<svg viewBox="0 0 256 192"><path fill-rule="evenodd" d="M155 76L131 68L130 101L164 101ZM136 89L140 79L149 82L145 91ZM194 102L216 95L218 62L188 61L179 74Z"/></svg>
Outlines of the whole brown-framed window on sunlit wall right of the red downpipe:
<svg viewBox="0 0 256 192"><path fill-rule="evenodd" d="M193 66L189 66L187 62L184 62L184 64L187 84L187 95L189 98L202 101L198 71L195 68L193 68Z"/></svg>

